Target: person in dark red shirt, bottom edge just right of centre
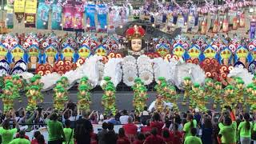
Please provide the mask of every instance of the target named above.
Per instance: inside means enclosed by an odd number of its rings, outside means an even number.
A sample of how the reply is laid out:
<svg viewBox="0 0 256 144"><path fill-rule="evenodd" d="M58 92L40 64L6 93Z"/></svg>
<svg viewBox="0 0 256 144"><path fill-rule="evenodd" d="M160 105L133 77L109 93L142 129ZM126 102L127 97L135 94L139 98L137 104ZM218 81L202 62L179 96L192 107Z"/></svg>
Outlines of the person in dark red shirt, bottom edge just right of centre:
<svg viewBox="0 0 256 144"><path fill-rule="evenodd" d="M151 130L151 135L146 138L144 144L166 144L166 142L158 135L158 129L154 127Z"/></svg>

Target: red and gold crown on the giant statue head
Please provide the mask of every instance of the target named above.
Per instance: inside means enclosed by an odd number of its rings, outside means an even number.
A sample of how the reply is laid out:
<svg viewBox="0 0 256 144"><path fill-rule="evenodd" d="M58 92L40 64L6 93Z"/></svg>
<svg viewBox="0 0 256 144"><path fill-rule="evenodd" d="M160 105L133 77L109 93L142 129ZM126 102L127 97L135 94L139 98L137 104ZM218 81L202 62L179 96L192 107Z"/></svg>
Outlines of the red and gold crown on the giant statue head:
<svg viewBox="0 0 256 144"><path fill-rule="evenodd" d="M132 39L132 38L142 38L145 35L145 30L142 28L142 26L134 26L130 27L128 30L126 30L126 38Z"/></svg>

